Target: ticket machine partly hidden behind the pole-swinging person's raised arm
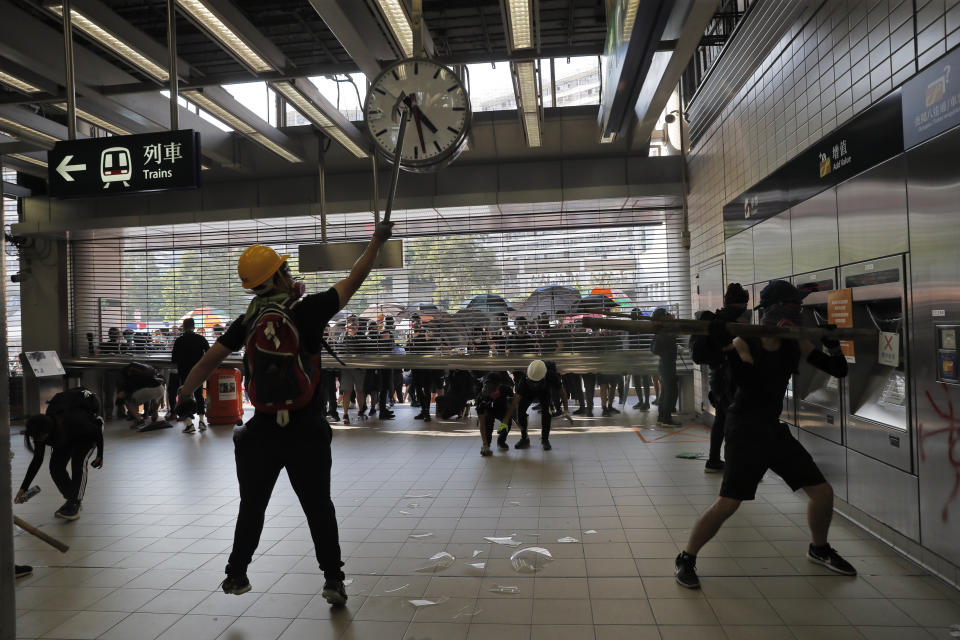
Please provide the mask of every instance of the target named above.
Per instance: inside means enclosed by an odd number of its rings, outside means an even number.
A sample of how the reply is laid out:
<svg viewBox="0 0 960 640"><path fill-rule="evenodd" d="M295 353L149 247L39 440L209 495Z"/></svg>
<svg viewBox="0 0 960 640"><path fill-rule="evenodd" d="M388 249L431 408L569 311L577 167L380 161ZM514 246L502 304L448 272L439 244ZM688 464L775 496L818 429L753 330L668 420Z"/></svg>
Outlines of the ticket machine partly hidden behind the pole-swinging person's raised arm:
<svg viewBox="0 0 960 640"><path fill-rule="evenodd" d="M829 324L828 292L837 288L835 269L793 277L793 285L805 292L803 322L806 327ZM800 361L793 387L797 400L797 426L821 438L843 444L844 381Z"/></svg>

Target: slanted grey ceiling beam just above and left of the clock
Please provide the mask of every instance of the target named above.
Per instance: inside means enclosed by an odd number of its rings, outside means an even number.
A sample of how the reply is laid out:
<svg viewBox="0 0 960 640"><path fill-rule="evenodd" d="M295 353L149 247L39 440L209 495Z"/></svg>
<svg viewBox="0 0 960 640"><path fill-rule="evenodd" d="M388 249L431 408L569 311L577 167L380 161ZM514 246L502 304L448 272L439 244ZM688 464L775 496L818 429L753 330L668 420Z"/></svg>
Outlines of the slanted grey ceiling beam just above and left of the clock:
<svg viewBox="0 0 960 640"><path fill-rule="evenodd" d="M310 5L368 78L380 73L381 60L393 60L396 57L392 43L365 2L310 0Z"/></svg>

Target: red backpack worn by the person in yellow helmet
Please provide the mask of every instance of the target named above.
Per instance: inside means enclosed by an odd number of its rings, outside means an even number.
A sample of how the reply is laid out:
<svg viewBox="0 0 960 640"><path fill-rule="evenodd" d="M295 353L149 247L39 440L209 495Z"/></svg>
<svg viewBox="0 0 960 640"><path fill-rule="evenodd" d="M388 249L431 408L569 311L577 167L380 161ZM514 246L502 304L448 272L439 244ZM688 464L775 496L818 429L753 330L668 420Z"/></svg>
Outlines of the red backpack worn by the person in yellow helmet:
<svg viewBox="0 0 960 640"><path fill-rule="evenodd" d="M251 304L247 325L247 395L257 411L276 413L277 424L313 399L320 380L319 355L307 353L290 310L294 301ZM248 313L248 316L251 314Z"/></svg>

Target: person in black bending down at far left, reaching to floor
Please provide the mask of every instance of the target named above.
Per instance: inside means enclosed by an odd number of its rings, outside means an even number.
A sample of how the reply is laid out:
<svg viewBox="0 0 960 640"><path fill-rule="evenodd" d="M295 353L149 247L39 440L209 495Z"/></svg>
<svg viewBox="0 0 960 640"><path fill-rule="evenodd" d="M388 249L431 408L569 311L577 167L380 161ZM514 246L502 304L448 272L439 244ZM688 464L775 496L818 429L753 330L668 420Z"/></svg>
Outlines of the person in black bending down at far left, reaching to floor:
<svg viewBox="0 0 960 640"><path fill-rule="evenodd" d="M45 414L27 420L24 440L33 452L33 460L14 502L26 502L25 494L43 464L46 448L51 448L50 477L66 503L54 514L64 520L80 517L80 504L87 488L87 462L96 469L103 466L103 418L100 400L83 387L67 389L50 399ZM67 465L71 472L67 474Z"/></svg>

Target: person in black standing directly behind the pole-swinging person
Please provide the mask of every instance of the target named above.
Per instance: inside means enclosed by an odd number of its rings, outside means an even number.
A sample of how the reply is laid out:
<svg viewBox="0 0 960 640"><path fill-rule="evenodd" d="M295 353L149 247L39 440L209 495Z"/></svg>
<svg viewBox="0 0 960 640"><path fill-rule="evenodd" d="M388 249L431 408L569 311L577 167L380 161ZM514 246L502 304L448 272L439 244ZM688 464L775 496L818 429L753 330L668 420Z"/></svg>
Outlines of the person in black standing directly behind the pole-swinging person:
<svg viewBox="0 0 960 640"><path fill-rule="evenodd" d="M750 294L740 283L731 282L727 285L727 292L723 296L723 307L717 309L716 313L705 312L700 319L719 320L721 322L749 322L750 311L747 309L749 300ZM732 348L732 345L725 347L727 350ZM710 391L707 397L714 407L715 415L713 426L710 428L710 455L707 457L704 471L717 473L723 471L720 449L723 446L727 407L733 402L733 382L730 379L726 354L710 336L691 336L690 356L697 364L705 364L710 367Z"/></svg>

